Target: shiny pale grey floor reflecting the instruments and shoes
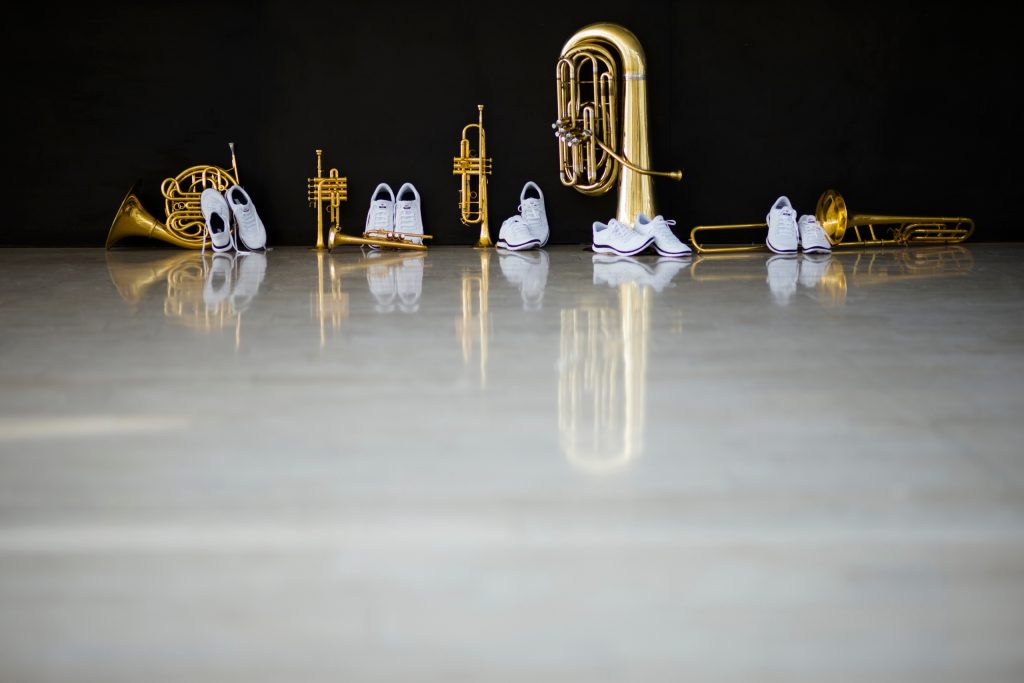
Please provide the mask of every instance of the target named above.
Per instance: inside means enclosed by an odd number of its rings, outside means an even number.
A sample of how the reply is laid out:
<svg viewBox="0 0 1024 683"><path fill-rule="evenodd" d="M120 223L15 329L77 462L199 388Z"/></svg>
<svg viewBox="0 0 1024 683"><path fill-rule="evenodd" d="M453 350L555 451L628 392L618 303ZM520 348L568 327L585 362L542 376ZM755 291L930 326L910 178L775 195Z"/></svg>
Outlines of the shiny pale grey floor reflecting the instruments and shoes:
<svg viewBox="0 0 1024 683"><path fill-rule="evenodd" d="M1024 680L1024 245L0 251L0 680Z"/></svg>

